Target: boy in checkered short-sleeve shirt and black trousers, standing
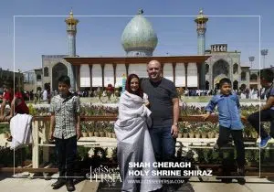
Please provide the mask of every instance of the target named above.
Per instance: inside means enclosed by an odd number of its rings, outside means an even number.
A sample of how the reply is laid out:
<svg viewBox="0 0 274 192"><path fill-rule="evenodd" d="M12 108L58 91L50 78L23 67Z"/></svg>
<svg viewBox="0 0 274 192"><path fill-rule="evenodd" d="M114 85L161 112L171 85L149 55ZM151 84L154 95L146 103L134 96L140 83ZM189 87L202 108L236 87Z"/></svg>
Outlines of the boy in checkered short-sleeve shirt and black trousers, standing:
<svg viewBox="0 0 274 192"><path fill-rule="evenodd" d="M79 97L69 92L68 76L58 79L59 94L50 103L50 133L49 138L55 138L58 156L58 181L51 186L58 189L66 184L68 191L74 191L74 163L77 154L77 140L81 135L79 126ZM67 180L65 179L67 178Z"/></svg>

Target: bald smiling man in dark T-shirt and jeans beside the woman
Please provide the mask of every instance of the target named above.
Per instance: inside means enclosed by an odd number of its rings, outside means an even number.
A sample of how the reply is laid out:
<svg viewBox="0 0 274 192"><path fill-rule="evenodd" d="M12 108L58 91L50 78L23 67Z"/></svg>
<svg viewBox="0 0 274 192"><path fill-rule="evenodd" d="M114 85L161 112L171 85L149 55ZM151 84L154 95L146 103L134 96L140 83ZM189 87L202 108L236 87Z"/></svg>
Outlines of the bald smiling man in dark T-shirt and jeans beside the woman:
<svg viewBox="0 0 274 192"><path fill-rule="evenodd" d="M149 79L143 79L142 91L148 95L153 127L150 135L156 161L173 161L178 135L179 99L174 82L162 77L159 61L147 65Z"/></svg>

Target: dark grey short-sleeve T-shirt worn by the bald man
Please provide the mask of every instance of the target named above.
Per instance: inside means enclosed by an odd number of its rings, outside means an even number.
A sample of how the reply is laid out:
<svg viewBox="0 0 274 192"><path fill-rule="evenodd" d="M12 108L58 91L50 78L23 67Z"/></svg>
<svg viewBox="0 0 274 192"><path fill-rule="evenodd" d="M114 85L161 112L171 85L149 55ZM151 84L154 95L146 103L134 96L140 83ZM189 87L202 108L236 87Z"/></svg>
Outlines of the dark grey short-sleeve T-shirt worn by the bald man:
<svg viewBox="0 0 274 192"><path fill-rule="evenodd" d="M171 126L174 117L173 99L178 97L174 82L164 78L158 82L142 79L141 87L148 95L153 127Z"/></svg>

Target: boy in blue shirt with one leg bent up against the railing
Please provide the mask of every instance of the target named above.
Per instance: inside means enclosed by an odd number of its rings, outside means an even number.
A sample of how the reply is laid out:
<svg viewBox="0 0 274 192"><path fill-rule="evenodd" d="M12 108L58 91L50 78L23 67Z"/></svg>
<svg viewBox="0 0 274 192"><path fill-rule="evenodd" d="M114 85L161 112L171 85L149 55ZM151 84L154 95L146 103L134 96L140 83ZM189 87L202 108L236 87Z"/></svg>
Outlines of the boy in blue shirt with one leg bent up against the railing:
<svg viewBox="0 0 274 192"><path fill-rule="evenodd" d="M214 96L205 107L206 114L204 115L204 120L210 116L210 113L217 106L219 138L216 141L215 149L227 144L229 142L229 135L231 134L237 150L237 173L239 176L245 176L245 146L239 100L237 95L231 92L231 80L224 78L220 80L219 85L220 94ZM238 181L244 183L244 177L239 177Z"/></svg>

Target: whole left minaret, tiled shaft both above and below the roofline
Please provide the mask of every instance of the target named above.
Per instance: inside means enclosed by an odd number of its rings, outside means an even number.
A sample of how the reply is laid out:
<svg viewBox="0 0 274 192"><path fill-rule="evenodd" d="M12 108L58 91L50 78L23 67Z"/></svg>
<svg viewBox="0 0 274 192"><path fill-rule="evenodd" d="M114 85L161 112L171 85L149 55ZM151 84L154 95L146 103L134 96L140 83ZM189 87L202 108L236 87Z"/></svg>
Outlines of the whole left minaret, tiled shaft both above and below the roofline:
<svg viewBox="0 0 274 192"><path fill-rule="evenodd" d="M68 18L65 20L67 24L67 34L68 34L68 57L76 57L76 33L77 24L79 20L73 17L72 9L69 13ZM77 80L78 74L76 72L76 67L71 65L68 68L68 77L70 78L71 91L78 91Z"/></svg>

